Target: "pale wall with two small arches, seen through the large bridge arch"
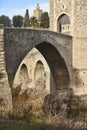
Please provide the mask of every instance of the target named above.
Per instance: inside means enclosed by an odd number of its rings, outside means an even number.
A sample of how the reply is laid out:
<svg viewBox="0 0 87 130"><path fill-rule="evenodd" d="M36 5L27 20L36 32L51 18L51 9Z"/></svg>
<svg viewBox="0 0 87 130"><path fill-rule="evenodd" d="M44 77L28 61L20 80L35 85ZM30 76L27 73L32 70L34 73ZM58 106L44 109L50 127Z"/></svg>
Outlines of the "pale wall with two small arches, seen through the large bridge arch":
<svg viewBox="0 0 87 130"><path fill-rule="evenodd" d="M42 64L37 66L39 62ZM24 73L21 73L23 65L26 66L25 76ZM32 90L38 89L39 91L42 89L42 91L50 93L50 76L46 60L36 48L33 48L21 62L14 78L13 88L21 84L22 90L32 88Z"/></svg>

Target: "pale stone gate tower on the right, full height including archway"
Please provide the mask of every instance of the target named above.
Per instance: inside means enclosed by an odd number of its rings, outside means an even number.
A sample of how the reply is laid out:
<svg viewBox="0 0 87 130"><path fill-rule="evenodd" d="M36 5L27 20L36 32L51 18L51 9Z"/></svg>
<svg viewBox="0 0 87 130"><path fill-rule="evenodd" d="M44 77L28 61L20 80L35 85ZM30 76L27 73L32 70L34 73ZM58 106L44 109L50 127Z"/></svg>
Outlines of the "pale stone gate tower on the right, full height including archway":
<svg viewBox="0 0 87 130"><path fill-rule="evenodd" d="M87 94L87 0L50 0L50 29L72 36L73 88Z"/></svg>

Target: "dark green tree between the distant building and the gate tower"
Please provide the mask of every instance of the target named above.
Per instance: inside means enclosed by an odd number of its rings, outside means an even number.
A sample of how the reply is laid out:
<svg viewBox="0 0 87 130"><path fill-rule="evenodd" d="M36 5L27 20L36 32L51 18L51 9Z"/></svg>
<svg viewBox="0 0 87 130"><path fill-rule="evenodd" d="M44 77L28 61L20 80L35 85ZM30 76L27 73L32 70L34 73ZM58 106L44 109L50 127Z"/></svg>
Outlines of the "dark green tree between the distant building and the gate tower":
<svg viewBox="0 0 87 130"><path fill-rule="evenodd" d="M41 15L41 26L44 28L49 27L49 15L48 12L43 12Z"/></svg>

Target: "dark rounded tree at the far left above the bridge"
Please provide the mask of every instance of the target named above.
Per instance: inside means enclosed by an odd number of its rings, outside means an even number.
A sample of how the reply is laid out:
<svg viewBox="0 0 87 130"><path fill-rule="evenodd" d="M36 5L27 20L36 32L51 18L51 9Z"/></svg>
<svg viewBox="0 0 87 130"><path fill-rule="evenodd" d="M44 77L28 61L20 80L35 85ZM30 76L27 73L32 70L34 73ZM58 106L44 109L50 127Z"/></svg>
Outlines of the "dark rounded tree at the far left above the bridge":
<svg viewBox="0 0 87 130"><path fill-rule="evenodd" d="M11 27L11 20L8 16L0 16L0 24L3 24L5 27Z"/></svg>

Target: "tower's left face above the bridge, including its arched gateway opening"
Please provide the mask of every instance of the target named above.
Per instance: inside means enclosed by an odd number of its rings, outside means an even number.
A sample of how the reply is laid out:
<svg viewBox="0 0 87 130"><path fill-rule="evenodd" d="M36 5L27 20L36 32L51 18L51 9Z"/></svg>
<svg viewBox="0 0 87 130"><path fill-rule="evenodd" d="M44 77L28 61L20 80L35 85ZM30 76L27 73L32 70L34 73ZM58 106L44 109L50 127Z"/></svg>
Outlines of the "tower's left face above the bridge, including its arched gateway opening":
<svg viewBox="0 0 87 130"><path fill-rule="evenodd" d="M50 0L51 30L73 34L75 0Z"/></svg>

